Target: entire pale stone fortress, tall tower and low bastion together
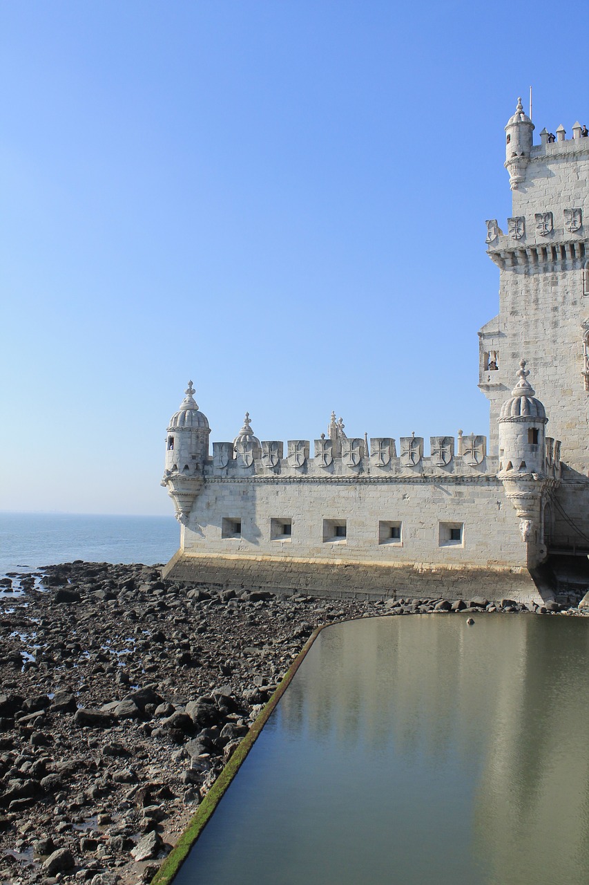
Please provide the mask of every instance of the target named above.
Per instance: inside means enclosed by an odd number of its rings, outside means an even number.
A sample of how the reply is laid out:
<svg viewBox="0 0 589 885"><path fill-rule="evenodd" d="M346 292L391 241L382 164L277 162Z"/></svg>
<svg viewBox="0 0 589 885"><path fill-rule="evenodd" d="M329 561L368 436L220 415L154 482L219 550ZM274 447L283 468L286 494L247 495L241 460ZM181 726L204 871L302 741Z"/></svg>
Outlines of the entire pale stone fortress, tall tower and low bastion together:
<svg viewBox="0 0 589 885"><path fill-rule="evenodd" d="M246 414L211 456L190 382L166 438L162 484L181 523L168 577L530 599L550 593L537 570L551 548L589 551L589 138L573 127L552 142L544 130L534 146L532 131L519 102L506 127L508 234L486 222L501 278L499 315L479 332L488 451L485 436L462 432L432 436L427 457L415 435L350 439L334 413L312 445L285 448L260 442Z"/></svg>

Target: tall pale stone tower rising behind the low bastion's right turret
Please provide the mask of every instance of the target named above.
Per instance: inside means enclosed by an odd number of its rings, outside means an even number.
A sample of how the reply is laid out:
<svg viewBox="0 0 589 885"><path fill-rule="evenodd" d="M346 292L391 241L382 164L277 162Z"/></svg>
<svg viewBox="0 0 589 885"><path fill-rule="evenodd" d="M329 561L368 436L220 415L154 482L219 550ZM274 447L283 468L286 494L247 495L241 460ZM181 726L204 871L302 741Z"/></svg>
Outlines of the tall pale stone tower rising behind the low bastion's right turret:
<svg viewBox="0 0 589 885"><path fill-rule="evenodd" d="M518 100L506 131L512 215L503 233L486 222L488 255L500 269L500 310L479 332L479 387L491 403L490 453L522 354L562 439L566 461L587 475L589 420L589 138L543 129Z"/></svg>

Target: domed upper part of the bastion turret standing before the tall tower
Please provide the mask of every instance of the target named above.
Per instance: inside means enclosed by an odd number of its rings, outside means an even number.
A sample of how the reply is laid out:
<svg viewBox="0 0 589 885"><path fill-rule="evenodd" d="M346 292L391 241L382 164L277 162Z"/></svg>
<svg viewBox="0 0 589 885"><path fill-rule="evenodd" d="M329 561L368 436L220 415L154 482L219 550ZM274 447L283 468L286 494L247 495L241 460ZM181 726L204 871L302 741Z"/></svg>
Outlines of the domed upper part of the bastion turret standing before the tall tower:
<svg viewBox="0 0 589 885"><path fill-rule="evenodd" d="M535 473L546 465L546 410L527 380L525 360L519 364L519 381L501 408L499 418L499 473Z"/></svg>

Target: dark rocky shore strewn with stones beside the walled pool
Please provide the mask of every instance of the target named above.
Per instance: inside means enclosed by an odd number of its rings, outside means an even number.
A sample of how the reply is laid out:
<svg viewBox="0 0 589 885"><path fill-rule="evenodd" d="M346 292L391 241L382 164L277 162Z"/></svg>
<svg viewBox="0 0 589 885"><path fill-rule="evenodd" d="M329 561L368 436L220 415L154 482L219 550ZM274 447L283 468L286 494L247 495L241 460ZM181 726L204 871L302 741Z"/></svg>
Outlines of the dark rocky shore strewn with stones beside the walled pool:
<svg viewBox="0 0 589 885"><path fill-rule="evenodd" d="M2 579L0 885L149 881L315 627L524 609L189 588L79 561Z"/></svg>

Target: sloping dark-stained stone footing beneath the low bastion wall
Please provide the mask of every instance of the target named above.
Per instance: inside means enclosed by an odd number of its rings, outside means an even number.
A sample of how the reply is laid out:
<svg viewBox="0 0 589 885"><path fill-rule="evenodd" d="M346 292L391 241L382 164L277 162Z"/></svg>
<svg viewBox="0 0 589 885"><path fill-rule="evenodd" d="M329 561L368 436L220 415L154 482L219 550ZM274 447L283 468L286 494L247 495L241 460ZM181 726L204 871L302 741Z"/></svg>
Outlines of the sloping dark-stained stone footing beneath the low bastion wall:
<svg viewBox="0 0 589 885"><path fill-rule="evenodd" d="M431 563L374 563L348 559L330 562L293 557L188 554L178 550L164 566L164 578L223 589L266 589L279 593L312 593L331 598L539 600L526 568Z"/></svg>

